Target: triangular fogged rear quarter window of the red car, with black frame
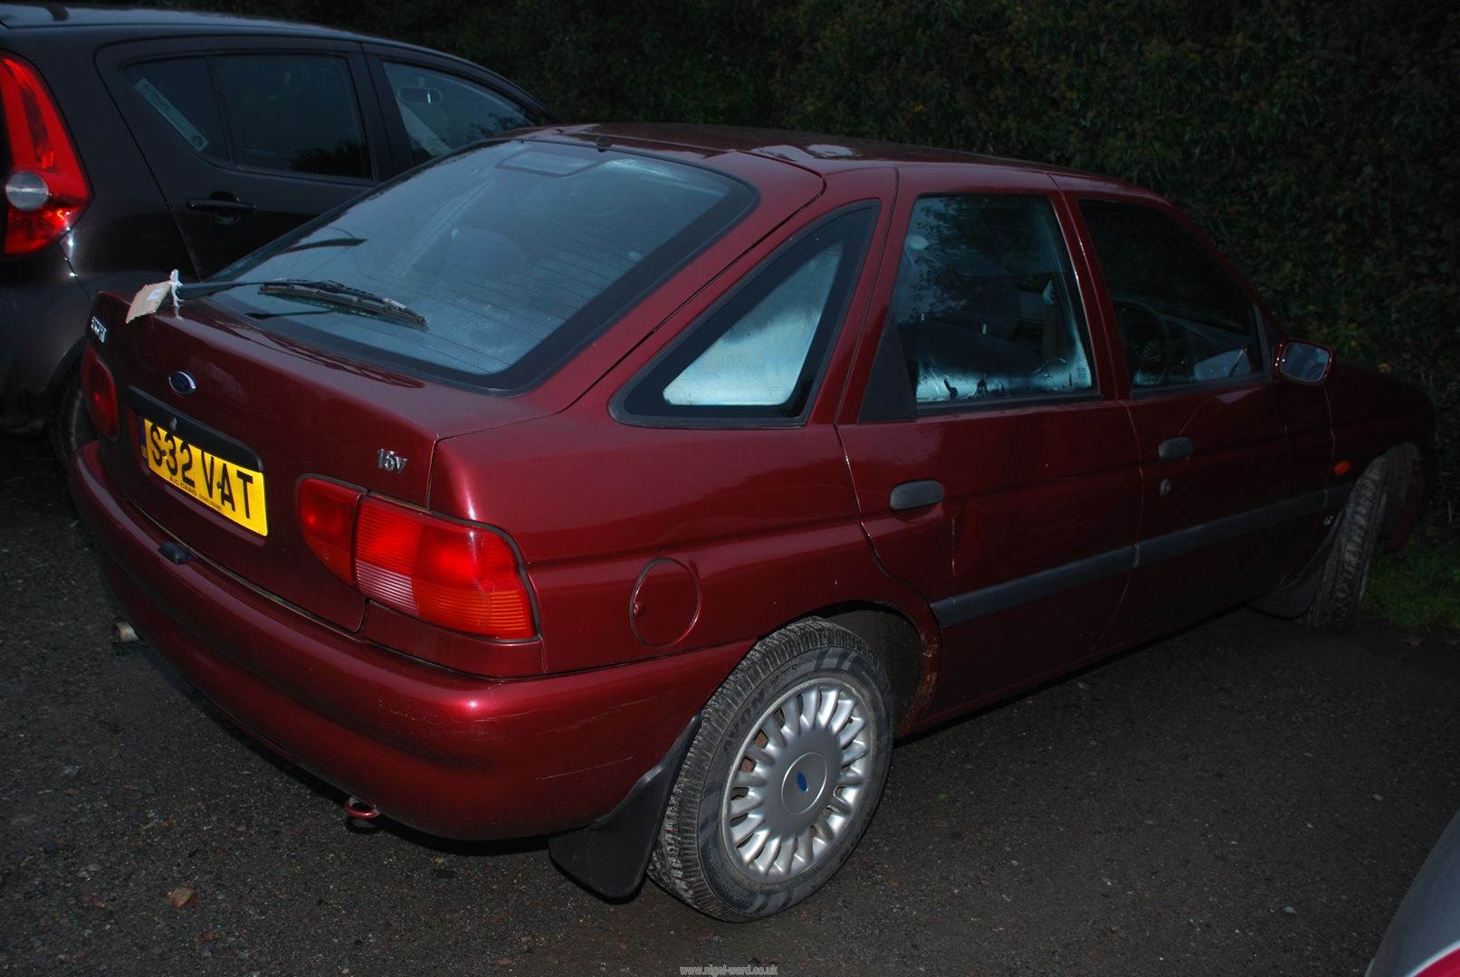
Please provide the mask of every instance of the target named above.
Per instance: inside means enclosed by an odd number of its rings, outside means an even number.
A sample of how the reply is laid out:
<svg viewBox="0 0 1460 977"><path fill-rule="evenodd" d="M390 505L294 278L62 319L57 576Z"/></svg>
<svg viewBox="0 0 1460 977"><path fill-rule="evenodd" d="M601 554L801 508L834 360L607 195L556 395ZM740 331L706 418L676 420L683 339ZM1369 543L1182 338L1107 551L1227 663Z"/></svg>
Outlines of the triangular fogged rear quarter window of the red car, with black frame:
<svg viewBox="0 0 1460 977"><path fill-rule="evenodd" d="M772 255L623 401L669 419L794 420L804 416L861 270L876 209L858 206Z"/></svg>

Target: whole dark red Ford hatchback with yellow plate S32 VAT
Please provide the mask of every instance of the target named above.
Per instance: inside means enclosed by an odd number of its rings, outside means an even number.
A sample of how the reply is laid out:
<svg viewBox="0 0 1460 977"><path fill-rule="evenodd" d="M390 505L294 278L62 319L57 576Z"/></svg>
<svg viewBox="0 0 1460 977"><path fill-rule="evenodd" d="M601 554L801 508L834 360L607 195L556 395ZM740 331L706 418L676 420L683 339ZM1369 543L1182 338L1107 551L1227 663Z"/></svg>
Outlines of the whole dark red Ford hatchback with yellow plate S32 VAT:
<svg viewBox="0 0 1460 977"><path fill-rule="evenodd" d="M1162 198L950 152L537 130L177 297L85 351L136 627L359 814L730 920L899 733L1245 601L1342 627L1432 480L1425 400Z"/></svg>

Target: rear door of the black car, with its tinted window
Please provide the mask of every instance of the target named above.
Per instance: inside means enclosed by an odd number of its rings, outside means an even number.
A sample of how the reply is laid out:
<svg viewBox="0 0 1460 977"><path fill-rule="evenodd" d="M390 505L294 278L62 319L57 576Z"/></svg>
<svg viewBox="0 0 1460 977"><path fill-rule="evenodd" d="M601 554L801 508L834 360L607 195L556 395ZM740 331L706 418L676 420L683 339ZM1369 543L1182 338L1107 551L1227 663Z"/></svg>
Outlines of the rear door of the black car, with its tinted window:
<svg viewBox="0 0 1460 977"><path fill-rule="evenodd" d="M393 169L355 42L177 38L105 47L96 61L197 277Z"/></svg>

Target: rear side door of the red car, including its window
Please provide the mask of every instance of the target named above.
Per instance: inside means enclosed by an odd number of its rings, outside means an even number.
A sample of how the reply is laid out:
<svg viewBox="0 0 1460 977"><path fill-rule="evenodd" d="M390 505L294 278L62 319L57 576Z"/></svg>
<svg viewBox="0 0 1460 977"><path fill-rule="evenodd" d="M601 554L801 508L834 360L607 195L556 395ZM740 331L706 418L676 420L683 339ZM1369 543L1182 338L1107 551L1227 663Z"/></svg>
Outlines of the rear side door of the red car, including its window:
<svg viewBox="0 0 1460 977"><path fill-rule="evenodd" d="M891 233L838 432L877 558L937 615L937 715L1095 647L1139 472L1048 176L904 171Z"/></svg>

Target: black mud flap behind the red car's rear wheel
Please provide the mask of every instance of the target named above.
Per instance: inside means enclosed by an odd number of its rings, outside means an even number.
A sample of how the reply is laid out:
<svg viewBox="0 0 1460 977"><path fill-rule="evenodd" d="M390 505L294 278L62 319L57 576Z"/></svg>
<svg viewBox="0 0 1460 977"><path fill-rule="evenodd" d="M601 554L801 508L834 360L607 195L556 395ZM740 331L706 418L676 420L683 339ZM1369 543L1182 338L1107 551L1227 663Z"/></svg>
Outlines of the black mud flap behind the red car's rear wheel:
<svg viewBox="0 0 1460 977"><path fill-rule="evenodd" d="M664 758L638 779L613 811L585 828L549 838L548 852L558 868L609 898L623 898L638 891L648 871L658 825L664 820L669 792L698 731L696 715Z"/></svg>

